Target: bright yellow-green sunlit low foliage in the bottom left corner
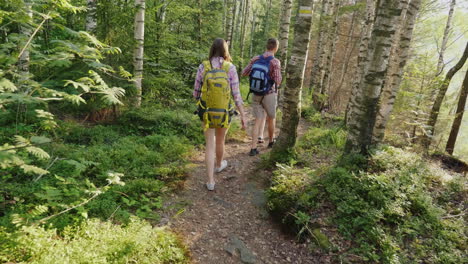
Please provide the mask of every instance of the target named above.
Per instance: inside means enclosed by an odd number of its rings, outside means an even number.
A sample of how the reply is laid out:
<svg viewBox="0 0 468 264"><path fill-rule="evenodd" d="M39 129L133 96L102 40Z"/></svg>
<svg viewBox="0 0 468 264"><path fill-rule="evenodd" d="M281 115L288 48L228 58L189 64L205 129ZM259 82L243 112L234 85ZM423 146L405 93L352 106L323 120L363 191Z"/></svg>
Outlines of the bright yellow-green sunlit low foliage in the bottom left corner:
<svg viewBox="0 0 468 264"><path fill-rule="evenodd" d="M132 218L127 226L88 220L59 234L37 226L0 229L0 261L27 263L189 263L179 238ZM90 250L92 249L92 250Z"/></svg>

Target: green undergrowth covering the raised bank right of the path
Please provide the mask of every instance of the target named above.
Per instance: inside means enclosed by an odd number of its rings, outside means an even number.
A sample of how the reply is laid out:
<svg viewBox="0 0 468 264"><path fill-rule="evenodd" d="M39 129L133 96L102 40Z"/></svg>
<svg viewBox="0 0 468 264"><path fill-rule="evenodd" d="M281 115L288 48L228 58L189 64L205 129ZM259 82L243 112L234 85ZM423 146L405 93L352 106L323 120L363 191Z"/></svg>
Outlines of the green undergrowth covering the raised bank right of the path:
<svg viewBox="0 0 468 264"><path fill-rule="evenodd" d="M339 127L309 129L299 162L274 172L267 191L273 215L336 261L463 263L466 179L390 146L369 159L342 156L345 138Z"/></svg>

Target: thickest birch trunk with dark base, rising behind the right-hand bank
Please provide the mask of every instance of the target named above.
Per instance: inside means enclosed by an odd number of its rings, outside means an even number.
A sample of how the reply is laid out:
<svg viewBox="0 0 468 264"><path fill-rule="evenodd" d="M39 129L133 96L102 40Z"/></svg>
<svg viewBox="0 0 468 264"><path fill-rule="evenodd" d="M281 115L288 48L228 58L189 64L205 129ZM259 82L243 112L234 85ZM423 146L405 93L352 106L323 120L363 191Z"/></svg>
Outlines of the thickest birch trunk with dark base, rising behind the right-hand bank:
<svg viewBox="0 0 468 264"><path fill-rule="evenodd" d="M348 137L346 151L368 154L372 145L372 132L377 117L378 102L388 57L405 0L381 0L376 7L375 24L369 41L369 52L365 58L364 75L348 113Z"/></svg>

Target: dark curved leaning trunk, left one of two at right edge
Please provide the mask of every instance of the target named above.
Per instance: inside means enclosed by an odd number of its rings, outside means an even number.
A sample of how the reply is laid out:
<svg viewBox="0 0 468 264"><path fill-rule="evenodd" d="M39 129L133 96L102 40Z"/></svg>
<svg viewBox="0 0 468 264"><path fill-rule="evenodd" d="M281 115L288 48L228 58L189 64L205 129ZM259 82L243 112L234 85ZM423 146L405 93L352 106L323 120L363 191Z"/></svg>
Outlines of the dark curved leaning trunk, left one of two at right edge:
<svg viewBox="0 0 468 264"><path fill-rule="evenodd" d="M429 120L427 122L427 136L424 140L424 146L428 148L431 144L431 138L434 136L434 127L437 122L437 118L439 117L439 111L442 106L442 102L444 101L445 94L447 93L447 89L449 87L450 81L452 80L453 76L465 65L465 62L468 58L468 42L466 43L465 51L463 51L463 55L460 60L457 62L455 66L453 66L445 75L445 79L442 85L439 88L439 92L437 97L432 105L431 113L429 115Z"/></svg>

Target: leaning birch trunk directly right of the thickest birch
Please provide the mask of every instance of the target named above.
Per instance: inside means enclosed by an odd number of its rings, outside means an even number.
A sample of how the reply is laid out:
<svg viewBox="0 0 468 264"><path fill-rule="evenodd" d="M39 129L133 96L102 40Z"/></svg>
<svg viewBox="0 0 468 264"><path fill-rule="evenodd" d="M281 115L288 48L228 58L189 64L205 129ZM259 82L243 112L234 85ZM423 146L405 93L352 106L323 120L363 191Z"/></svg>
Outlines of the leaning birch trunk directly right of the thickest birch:
<svg viewBox="0 0 468 264"><path fill-rule="evenodd" d="M380 109L374 127L373 140L376 143L381 142L385 136L385 128L393 110L395 98L400 89L406 62L409 59L414 24L420 7L421 0L412 0L408 5L406 17L400 22L401 28L398 31L398 42L394 45L395 50L391 58L393 65L391 65L391 70L389 70L387 74L387 80L385 81L385 86L380 99Z"/></svg>

